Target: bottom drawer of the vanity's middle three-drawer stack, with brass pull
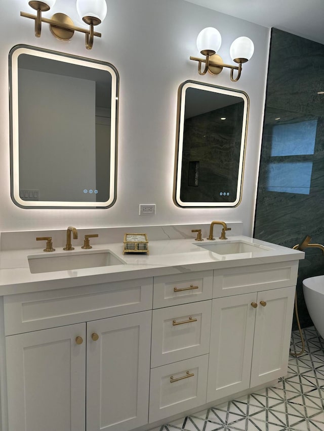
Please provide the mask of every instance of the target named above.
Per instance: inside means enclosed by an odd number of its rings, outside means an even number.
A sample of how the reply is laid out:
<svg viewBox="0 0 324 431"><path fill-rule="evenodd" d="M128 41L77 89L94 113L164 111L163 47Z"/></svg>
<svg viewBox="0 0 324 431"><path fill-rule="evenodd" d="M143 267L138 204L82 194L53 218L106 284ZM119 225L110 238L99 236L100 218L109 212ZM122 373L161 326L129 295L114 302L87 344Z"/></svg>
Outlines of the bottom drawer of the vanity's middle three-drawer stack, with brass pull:
<svg viewBox="0 0 324 431"><path fill-rule="evenodd" d="M208 356L151 370L149 422L206 404Z"/></svg>

